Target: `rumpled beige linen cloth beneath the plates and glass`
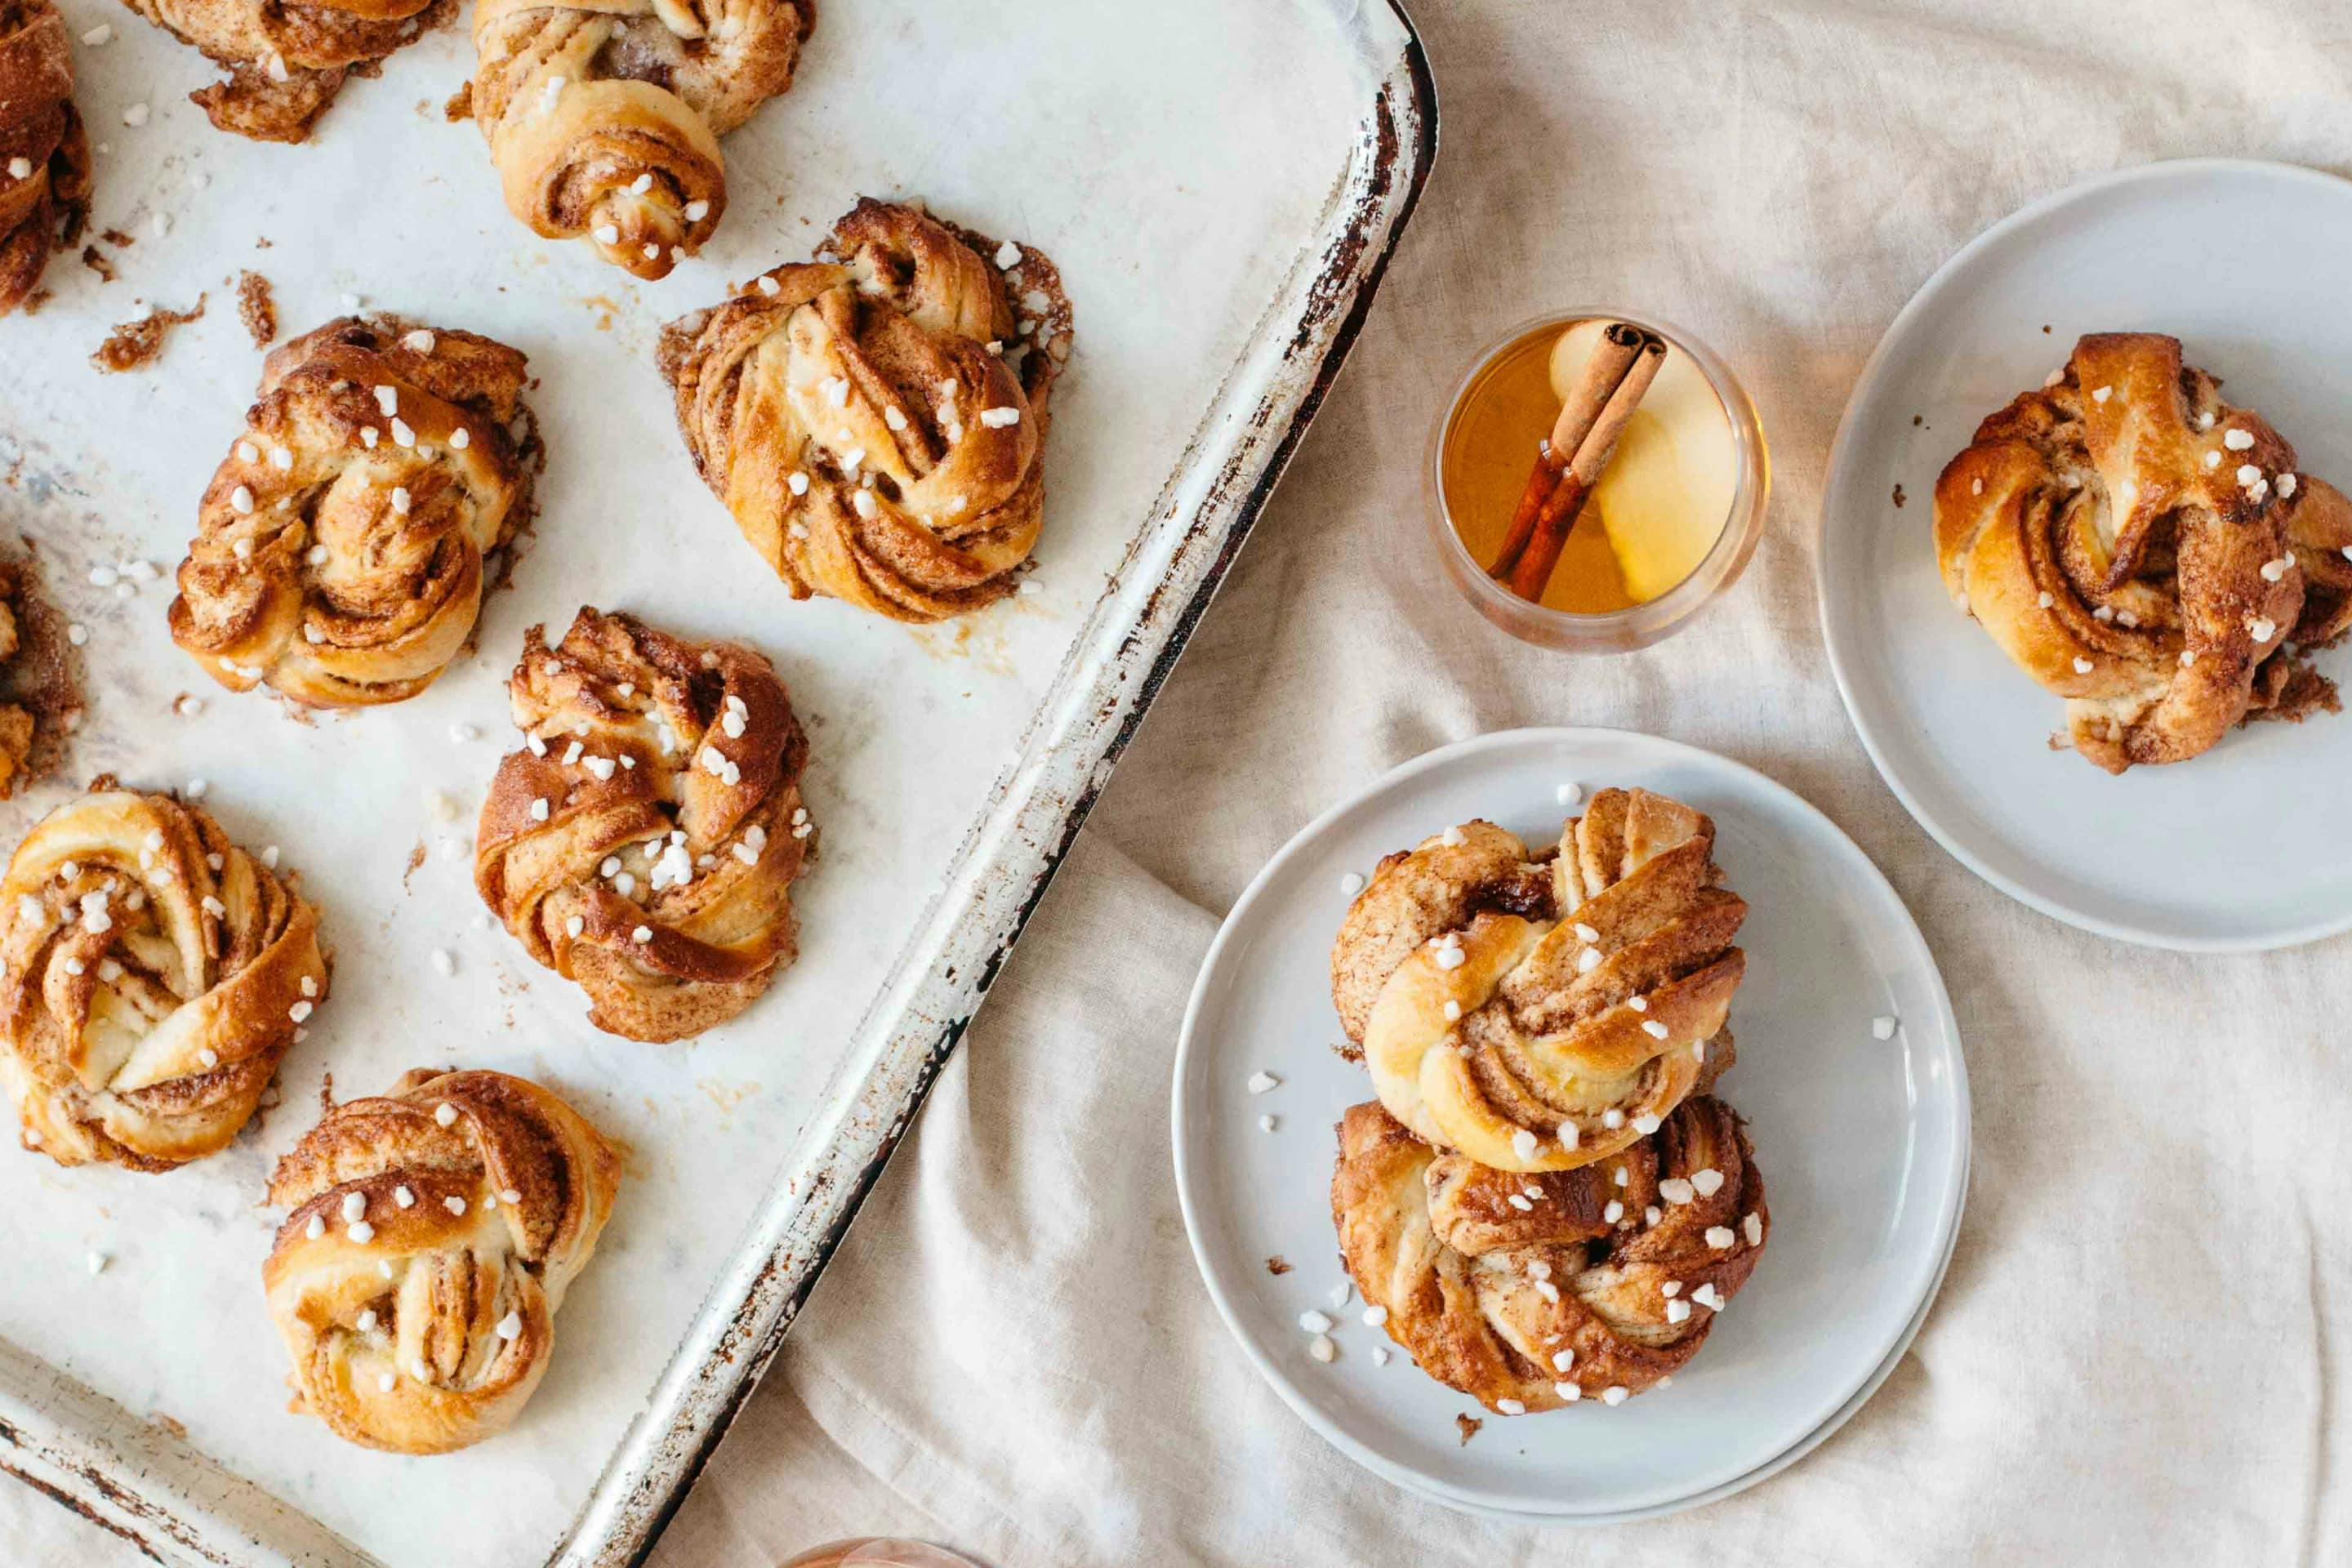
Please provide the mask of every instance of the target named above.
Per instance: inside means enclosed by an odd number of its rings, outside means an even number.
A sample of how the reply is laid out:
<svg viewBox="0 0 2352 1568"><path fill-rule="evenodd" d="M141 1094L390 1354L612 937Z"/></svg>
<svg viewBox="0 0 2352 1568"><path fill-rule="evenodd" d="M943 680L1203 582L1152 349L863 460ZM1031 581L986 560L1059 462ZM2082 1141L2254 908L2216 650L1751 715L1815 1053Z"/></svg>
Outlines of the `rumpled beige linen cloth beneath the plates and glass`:
<svg viewBox="0 0 2352 1568"><path fill-rule="evenodd" d="M1444 153L1355 360L654 1563L866 1530L997 1568L2352 1561L2352 940L2194 959L2006 900L1872 773L1811 585L1830 435L1912 289L2086 174L2352 174L2352 2L1416 9ZM1726 602L1578 661L1435 578L1421 456L1479 343L1609 301L1722 350L1778 489ZM1877 1399L1755 1490L1606 1533L1449 1514L1327 1448L1216 1319L1167 1152L1183 1001L1258 865L1421 750L1564 722L1712 748L1851 832L1943 964L1976 1093L1959 1251ZM2281 832L2345 856L2347 823ZM26 1488L12 1530L31 1561L120 1554Z"/></svg>

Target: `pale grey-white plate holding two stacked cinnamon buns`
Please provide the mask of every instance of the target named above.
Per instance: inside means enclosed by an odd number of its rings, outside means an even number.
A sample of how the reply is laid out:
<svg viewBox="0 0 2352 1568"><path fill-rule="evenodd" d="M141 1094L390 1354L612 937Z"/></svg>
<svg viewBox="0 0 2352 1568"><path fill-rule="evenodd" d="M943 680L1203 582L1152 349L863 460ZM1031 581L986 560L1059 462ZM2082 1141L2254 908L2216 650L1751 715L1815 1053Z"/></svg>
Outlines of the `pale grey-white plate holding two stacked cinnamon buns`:
<svg viewBox="0 0 2352 1568"><path fill-rule="evenodd" d="M1472 816L1557 837L1557 788L1646 785L1715 818L1750 903L1724 1098L1750 1121L1773 1239L1691 1366L1618 1408L1486 1418L1423 1375L1350 1298L1341 1356L1308 1356L1298 1314L1345 1279L1331 1234L1334 1126L1371 1098L1343 1060L1329 947L1341 877ZM1872 1039L1870 1020L1903 1030ZM1249 1077L1282 1086L1254 1095ZM1279 1119L1265 1133L1258 1117ZM1602 1521L1738 1490L1825 1436L1884 1378L1933 1295L1966 1197L1969 1079L1936 961L1877 867L1762 773L1672 741L1524 729L1451 745L1310 823L1209 947L1174 1091L1176 1190L1202 1279L1242 1349L1298 1415L1371 1472L1449 1505ZM1275 1276L1265 1260L1294 1267Z"/></svg>

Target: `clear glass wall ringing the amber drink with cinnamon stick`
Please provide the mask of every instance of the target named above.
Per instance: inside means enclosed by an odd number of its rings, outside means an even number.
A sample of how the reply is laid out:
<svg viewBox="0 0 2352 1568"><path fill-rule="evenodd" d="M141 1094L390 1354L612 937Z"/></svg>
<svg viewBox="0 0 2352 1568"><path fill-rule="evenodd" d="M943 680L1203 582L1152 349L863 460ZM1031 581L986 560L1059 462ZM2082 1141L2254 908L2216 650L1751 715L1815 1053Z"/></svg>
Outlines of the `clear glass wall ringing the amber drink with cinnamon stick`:
<svg viewBox="0 0 2352 1568"><path fill-rule="evenodd" d="M1665 339L1675 350L1691 357L1691 364L1698 367L1698 371L1708 378L1708 386L1715 388L1715 397L1724 404L1724 418L1731 423L1733 465L1738 477L1731 494L1731 512L1724 517L1724 531L1717 534L1715 545L1705 552L1705 557L1700 557L1698 567L1693 567L1686 578L1668 588L1656 599L1646 599L1628 609L1571 614L1522 599L1508 585L1494 581L1482 562L1470 557L1470 548L1463 545L1463 538L1454 527L1454 515L1446 508L1444 451L1446 433L1461 416L1463 402L1470 397L1470 390L1479 383L1479 378L1496 364L1496 360L1538 331L1557 336L1576 322L1590 320L1646 327ZM1536 454L1529 449L1529 463L1534 461ZM1764 536L1764 503L1771 494L1771 458L1764 451L1764 425L1757 423L1757 409L1748 400L1748 390L1738 383L1738 376L1731 374L1731 367L1717 360L1705 343L1672 322L1635 315L1632 310L1590 308L1559 310L1524 320L1479 350L1463 378L1454 383L1454 395L1446 397L1446 409L1437 418L1437 428L1430 430L1430 456L1423 482L1428 487L1428 508L1423 515L1428 522L1430 545L1437 550L1437 559L1444 567L1446 578L1482 616L1501 625L1512 637L1548 649L1569 649L1576 654L1628 654L1632 649L1646 649L1663 637L1672 637L1691 621L1691 616L1719 599L1729 592L1731 583L1738 581L1740 571L1748 567L1748 557L1755 555L1757 541Z"/></svg>

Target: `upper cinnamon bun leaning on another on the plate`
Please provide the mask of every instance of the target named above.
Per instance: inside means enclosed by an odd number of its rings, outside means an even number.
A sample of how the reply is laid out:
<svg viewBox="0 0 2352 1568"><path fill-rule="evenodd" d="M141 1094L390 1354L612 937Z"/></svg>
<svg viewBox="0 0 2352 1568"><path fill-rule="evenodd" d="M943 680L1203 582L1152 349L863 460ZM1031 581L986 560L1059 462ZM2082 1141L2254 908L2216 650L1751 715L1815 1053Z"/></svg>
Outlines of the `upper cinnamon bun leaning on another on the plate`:
<svg viewBox="0 0 2352 1568"><path fill-rule="evenodd" d="M1569 1171L1646 1138L1731 1060L1748 905L1715 823L1599 790L1531 858L1463 823L1381 860L1331 945L1331 999L1381 1105L1498 1171Z"/></svg>

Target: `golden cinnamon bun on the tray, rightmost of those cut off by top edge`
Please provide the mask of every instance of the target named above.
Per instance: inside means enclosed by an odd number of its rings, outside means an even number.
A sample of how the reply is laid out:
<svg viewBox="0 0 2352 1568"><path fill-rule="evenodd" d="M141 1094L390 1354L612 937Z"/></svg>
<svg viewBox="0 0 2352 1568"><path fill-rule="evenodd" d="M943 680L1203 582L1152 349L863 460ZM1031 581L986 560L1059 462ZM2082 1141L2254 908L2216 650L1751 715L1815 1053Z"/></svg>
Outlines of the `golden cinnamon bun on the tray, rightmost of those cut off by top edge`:
<svg viewBox="0 0 2352 1568"><path fill-rule="evenodd" d="M475 0L473 118L506 209L668 277L727 212L720 136L793 85L814 0Z"/></svg>

